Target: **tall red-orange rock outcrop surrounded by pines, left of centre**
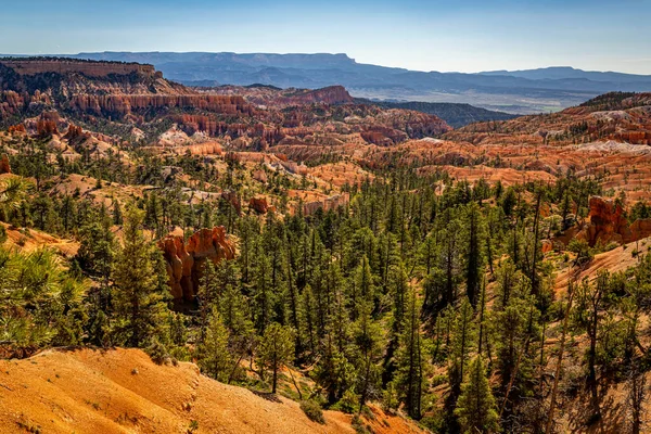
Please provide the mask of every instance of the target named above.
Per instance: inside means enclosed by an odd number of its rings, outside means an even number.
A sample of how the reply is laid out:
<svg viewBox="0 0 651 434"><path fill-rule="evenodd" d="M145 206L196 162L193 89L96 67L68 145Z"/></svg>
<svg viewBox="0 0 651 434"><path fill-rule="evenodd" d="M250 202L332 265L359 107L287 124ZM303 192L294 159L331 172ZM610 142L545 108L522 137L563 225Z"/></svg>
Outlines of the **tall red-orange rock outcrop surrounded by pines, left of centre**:
<svg viewBox="0 0 651 434"><path fill-rule="evenodd" d="M217 264L235 257L235 247L222 226L201 229L188 241L180 235L167 235L158 242L167 264L171 296L192 301L206 260Z"/></svg>

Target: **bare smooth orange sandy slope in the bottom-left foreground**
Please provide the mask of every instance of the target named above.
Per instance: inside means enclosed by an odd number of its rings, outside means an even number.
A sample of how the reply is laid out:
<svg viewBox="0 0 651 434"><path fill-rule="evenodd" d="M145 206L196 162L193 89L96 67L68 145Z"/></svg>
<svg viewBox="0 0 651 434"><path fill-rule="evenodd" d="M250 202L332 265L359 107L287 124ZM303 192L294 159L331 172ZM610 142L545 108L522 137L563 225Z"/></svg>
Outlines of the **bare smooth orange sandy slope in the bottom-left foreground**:
<svg viewBox="0 0 651 434"><path fill-rule="evenodd" d="M420 432L373 407L375 433ZM48 350L0 360L1 433L354 433L350 416L311 422L297 403L226 385L193 363L157 366L138 349Z"/></svg>

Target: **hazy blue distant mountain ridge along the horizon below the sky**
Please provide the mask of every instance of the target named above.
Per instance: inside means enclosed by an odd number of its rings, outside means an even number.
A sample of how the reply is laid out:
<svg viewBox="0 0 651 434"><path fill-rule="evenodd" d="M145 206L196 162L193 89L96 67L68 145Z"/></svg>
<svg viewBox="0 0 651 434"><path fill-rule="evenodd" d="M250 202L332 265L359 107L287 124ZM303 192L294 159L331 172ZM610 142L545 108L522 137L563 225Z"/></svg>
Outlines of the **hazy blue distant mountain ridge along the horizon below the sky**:
<svg viewBox="0 0 651 434"><path fill-rule="evenodd" d="M100 52L68 58L153 64L189 86L253 84L318 89L344 86L353 97L452 102L515 114L556 112L611 91L651 90L651 76L570 67L478 74L418 72L357 63L346 54Z"/></svg>

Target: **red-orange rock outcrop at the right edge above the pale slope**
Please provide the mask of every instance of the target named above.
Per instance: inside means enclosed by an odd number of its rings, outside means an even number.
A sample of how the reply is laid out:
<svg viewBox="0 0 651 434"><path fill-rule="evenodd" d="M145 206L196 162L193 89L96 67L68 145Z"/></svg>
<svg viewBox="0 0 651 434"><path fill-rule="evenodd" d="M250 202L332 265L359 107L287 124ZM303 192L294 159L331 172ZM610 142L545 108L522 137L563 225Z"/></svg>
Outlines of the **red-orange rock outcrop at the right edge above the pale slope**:
<svg viewBox="0 0 651 434"><path fill-rule="evenodd" d="M592 196L589 201L589 222L576 234L590 246L615 242L630 243L651 235L651 219L639 219L628 224L624 208L617 202Z"/></svg>

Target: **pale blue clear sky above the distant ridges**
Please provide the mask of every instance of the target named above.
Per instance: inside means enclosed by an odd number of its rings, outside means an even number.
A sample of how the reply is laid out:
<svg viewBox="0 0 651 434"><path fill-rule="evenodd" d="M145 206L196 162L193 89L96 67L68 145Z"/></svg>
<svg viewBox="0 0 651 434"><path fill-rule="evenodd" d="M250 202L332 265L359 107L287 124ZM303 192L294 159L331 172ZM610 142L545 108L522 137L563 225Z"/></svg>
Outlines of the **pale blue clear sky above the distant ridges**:
<svg viewBox="0 0 651 434"><path fill-rule="evenodd" d="M0 0L0 53L346 53L473 73L651 75L651 0Z"/></svg>

